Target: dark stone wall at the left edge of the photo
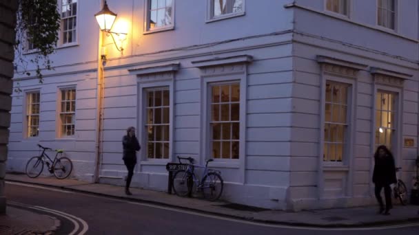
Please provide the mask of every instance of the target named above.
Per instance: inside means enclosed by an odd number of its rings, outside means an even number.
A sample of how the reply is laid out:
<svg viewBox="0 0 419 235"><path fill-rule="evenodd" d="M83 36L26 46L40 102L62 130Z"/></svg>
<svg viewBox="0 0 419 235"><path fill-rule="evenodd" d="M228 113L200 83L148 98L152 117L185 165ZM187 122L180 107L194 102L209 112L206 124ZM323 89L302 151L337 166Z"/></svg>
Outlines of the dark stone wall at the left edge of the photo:
<svg viewBox="0 0 419 235"><path fill-rule="evenodd" d="M6 213L4 193L6 175L7 144L12 107L12 77L14 59L14 25L17 10L16 0L0 0L0 214Z"/></svg>

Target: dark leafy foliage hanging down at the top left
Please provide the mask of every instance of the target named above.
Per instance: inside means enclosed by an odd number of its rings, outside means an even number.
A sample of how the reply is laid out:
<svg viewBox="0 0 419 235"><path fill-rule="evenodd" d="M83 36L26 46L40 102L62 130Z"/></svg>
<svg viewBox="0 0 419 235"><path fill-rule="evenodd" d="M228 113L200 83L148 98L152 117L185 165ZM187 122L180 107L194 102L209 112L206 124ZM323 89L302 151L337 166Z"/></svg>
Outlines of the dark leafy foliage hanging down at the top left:
<svg viewBox="0 0 419 235"><path fill-rule="evenodd" d="M17 59L15 67L17 72L30 76L28 72L27 57L36 67L35 72L42 82L42 70L52 69L50 54L55 52L59 39L60 14L57 1L51 0L19 0L17 12L16 41L14 49ZM34 50L33 56L24 56L23 53Z"/></svg>

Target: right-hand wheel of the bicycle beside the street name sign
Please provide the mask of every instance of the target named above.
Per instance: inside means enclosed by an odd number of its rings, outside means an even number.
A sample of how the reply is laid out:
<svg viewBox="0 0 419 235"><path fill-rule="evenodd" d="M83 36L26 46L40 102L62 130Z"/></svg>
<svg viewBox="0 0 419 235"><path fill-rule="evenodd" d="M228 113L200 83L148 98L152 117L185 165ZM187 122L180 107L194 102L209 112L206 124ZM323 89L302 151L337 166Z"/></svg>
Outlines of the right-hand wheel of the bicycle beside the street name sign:
<svg viewBox="0 0 419 235"><path fill-rule="evenodd" d="M210 201L216 201L223 193L224 182L221 175L216 172L210 172L203 179L202 191L204 198Z"/></svg>

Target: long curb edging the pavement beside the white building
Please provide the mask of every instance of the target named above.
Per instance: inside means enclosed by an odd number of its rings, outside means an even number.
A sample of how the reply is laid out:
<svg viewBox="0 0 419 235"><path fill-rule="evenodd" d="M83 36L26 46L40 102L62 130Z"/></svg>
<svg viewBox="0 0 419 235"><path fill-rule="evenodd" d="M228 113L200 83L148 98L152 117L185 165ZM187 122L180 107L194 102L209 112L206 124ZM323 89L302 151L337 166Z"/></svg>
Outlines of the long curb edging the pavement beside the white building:
<svg viewBox="0 0 419 235"><path fill-rule="evenodd" d="M362 227L378 227L380 225L400 225L400 224L404 224L404 223L413 223L413 222L419 222L419 215L417 218L409 218L409 219L394 219L394 220L389 220L389 221L375 221L375 222L369 222L369 223L354 223L354 224L345 224L345 223L335 223L333 225L318 225L318 224L311 224L311 223L300 223L300 222L287 222L287 221L272 221L272 220L264 220L264 219L255 219L254 217L247 217L247 216L238 216L238 215L234 215L234 214L226 214L226 213L221 213L221 212L209 212L207 210L200 210L200 209L196 209L196 208L188 208L185 206L181 206L181 205L172 205L172 204L168 204L168 203L164 203L161 201L150 201L150 200L145 200L145 199L137 199L137 198L131 198L131 197L125 197L125 196L114 196L114 195L110 195L110 194L104 194L101 192L91 192L88 190L79 190L79 189L74 189L74 188L69 188L70 186L52 186L50 184L46 184L46 183L32 183L32 182L27 182L27 181L19 181L19 180L14 180L14 179L5 179L6 181L13 181L13 182L19 182L19 183L29 183L29 184L34 184L34 185L39 185L39 186L45 186L45 187L50 187L50 188L59 188L59 189L63 189L63 190L68 190L68 191L72 191L72 192L82 192L85 194L94 194L94 195L98 195L98 196L102 196L102 197L109 197L109 198L114 198L114 199L124 199L126 201L138 201L141 203L149 203L152 205L161 205L161 206L165 206L167 208L175 208L175 209L181 209L181 210L187 210L190 212L199 212L202 214L209 214L209 215L213 215L213 216L221 216L221 217L225 217L225 218L230 218L230 219L237 219L237 220L241 220L241 221L249 221L249 222L254 222L254 223L265 223L265 224L269 224L269 225L284 225L284 226L295 226L295 227L316 227L316 228L338 228L338 227L342 227L342 228L362 228ZM94 183L92 183L94 184Z"/></svg>

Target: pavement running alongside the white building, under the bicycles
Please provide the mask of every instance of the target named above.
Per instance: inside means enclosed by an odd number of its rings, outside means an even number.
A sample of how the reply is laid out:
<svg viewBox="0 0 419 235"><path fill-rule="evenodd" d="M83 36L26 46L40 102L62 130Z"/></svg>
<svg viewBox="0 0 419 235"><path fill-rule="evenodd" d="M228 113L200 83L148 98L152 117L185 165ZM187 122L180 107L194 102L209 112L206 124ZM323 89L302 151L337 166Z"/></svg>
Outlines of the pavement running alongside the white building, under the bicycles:
<svg viewBox="0 0 419 235"><path fill-rule="evenodd" d="M378 206L285 212L252 208L225 201L211 202L197 198L177 197L174 194L167 194L166 192L156 192L140 188L130 188L132 195L127 196L125 195L124 188L121 186L90 183L75 179L55 179L54 177L38 177L31 179L23 174L8 173L6 174L6 181L32 183L39 186L72 190L74 192L84 192L116 199L129 199L131 201L152 203L154 205L163 205L192 212L203 212L205 214L225 216L232 219L243 219L246 221L278 225L308 227L369 227L400 223L419 223L419 205L394 205L394 208L391 210L391 215L389 216L376 214ZM9 209L10 207L8 207L8 210ZM13 210L14 209L12 209L12 212Z"/></svg>

